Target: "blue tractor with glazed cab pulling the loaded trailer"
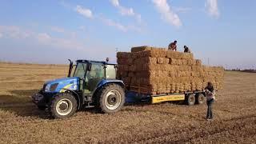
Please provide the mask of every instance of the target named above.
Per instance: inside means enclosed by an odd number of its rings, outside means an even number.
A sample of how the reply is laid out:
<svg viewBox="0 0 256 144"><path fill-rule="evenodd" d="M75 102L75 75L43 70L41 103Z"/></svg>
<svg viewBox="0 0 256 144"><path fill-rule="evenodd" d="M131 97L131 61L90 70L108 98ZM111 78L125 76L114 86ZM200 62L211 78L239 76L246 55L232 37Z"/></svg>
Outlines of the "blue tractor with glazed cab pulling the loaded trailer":
<svg viewBox="0 0 256 144"><path fill-rule="evenodd" d="M32 96L32 101L38 109L49 111L53 118L68 118L82 107L114 113L125 102L125 85L116 79L116 74L117 65L108 59L106 62L77 60L76 65L70 61L67 78L46 82Z"/></svg>

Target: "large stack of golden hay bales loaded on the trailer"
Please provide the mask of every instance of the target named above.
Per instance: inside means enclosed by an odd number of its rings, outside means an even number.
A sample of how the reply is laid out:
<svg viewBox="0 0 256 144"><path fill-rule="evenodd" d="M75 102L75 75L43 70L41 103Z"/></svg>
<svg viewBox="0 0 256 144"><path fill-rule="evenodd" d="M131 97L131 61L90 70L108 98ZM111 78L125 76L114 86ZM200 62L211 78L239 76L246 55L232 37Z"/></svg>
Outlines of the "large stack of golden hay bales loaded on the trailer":
<svg viewBox="0 0 256 144"><path fill-rule="evenodd" d="M223 68L202 66L193 54L150 46L118 52L118 78L128 90L142 94L170 94L203 90L207 82L222 88Z"/></svg>

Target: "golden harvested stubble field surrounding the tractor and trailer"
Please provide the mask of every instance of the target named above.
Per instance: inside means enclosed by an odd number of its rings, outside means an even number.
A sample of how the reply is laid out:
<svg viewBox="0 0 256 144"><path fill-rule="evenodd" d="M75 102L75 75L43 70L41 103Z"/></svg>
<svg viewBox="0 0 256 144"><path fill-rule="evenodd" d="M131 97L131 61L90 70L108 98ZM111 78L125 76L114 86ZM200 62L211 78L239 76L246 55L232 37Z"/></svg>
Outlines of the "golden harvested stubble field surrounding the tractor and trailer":
<svg viewBox="0 0 256 144"><path fill-rule="evenodd" d="M125 106L116 114L79 111L49 119L30 102L44 81L62 78L68 66L0 63L0 143L255 143L256 74L225 72L224 89L214 103L214 121L206 105L174 103Z"/></svg>

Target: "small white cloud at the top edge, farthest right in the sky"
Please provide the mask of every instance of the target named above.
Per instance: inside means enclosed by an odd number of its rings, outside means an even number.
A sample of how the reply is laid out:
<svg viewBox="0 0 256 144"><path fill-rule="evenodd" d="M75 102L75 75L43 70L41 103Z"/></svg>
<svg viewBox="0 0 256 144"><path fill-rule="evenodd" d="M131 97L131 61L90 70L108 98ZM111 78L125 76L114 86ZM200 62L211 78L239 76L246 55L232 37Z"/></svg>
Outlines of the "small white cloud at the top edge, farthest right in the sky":
<svg viewBox="0 0 256 144"><path fill-rule="evenodd" d="M219 17L218 0L206 0L206 10L210 16L214 18Z"/></svg>

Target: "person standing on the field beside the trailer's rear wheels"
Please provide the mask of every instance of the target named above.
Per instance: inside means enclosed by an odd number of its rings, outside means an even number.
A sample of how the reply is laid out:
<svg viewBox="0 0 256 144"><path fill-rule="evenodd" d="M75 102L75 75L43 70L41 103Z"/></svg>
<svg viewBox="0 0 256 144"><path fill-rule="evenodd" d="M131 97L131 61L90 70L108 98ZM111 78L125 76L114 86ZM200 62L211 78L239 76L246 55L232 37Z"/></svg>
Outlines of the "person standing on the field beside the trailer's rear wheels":
<svg viewBox="0 0 256 144"><path fill-rule="evenodd" d="M211 82L208 82L204 91L206 93L206 100L207 100L207 106L208 106L206 119L207 121L209 121L213 119L212 105L215 100L215 90L214 90L213 84Z"/></svg>

